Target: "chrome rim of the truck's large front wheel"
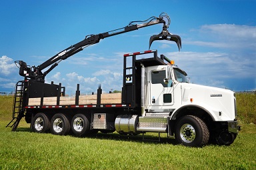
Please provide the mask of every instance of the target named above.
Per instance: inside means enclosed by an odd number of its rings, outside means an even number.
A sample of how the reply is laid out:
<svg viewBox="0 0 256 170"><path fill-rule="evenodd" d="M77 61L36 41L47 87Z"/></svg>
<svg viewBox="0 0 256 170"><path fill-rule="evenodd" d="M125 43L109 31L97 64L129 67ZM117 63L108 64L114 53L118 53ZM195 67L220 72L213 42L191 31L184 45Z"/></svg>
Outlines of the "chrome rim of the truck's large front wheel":
<svg viewBox="0 0 256 170"><path fill-rule="evenodd" d="M191 143L195 140L195 128L192 125L186 123L181 127L179 135L184 142Z"/></svg>

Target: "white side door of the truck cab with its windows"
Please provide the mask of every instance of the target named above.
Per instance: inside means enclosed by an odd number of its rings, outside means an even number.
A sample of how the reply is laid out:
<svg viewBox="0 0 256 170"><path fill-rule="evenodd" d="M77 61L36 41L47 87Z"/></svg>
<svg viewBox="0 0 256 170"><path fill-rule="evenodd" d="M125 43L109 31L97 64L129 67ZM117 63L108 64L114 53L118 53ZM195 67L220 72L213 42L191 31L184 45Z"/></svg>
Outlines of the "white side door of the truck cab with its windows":
<svg viewBox="0 0 256 170"><path fill-rule="evenodd" d="M151 71L150 97L151 106L157 106L155 109L161 109L161 106L173 105L173 85L171 74L169 74L169 83L165 83L167 78L165 69ZM159 106L159 107L158 107Z"/></svg>

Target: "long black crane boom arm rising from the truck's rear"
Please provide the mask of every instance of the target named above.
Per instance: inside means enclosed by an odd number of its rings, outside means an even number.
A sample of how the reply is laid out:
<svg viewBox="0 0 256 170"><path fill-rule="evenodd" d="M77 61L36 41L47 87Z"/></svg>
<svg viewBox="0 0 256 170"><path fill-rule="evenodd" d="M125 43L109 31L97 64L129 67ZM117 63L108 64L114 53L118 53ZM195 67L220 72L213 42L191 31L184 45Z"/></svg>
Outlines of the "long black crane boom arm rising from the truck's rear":
<svg viewBox="0 0 256 170"><path fill-rule="evenodd" d="M133 21L129 23L126 27L120 28L120 29L115 29L113 31L108 31L105 33L99 33L97 35L87 35L85 39L80 41L79 43L76 43L75 45L71 45L70 47L67 47L67 49L64 49L63 51L57 53L41 65L38 65L37 67L28 67L27 63L24 61L15 61L15 63L19 64L19 74L21 76L27 77L29 79L34 79L35 81L39 82L44 82L45 81L45 76L53 70L59 62L62 60L67 59L68 57L71 57L72 55L75 55L79 51L82 51L85 47L88 47L89 45L93 45L95 43L99 43L101 39L105 39L107 37L112 37L114 35L119 35L122 33L127 33L129 31L135 31L137 29L141 29L143 27L149 27L151 25L156 25L159 23L163 23L163 29L167 29L170 23L169 16L164 13L165 15L162 15L163 13L160 14L159 17L150 17L146 21ZM165 19L169 21L167 24L165 22ZM135 24L133 25L132 23L137 23L137 22L143 22L141 24ZM175 41L173 39L168 39L171 41ZM179 43L181 44L181 41L175 41L179 47ZM49 67L51 65L51 67ZM49 67L47 71L42 73L42 70Z"/></svg>

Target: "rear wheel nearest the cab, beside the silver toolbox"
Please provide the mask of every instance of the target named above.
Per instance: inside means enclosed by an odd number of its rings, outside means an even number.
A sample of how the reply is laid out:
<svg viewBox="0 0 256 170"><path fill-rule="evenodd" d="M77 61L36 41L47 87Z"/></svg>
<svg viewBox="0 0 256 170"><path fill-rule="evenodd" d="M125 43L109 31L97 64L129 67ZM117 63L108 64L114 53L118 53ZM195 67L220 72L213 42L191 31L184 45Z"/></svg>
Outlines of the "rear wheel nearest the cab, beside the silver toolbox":
<svg viewBox="0 0 256 170"><path fill-rule="evenodd" d="M90 123L87 117L83 114L77 114L71 121L71 129L77 136L84 136L89 133Z"/></svg>

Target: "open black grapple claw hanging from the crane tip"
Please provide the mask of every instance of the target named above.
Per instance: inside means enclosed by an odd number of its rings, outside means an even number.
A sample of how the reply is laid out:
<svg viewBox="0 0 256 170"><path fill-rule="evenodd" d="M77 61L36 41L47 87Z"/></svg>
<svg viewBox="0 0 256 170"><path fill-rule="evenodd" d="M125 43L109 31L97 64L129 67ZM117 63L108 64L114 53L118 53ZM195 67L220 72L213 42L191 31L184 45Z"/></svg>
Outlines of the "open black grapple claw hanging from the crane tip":
<svg viewBox="0 0 256 170"><path fill-rule="evenodd" d="M167 27L163 27L163 31L159 33L159 35L152 35L149 39L149 49L151 47L151 44L155 40L168 40L168 41L175 41L177 43L177 46L179 48L179 51L181 50L181 37L179 35L173 35L167 31Z"/></svg>

